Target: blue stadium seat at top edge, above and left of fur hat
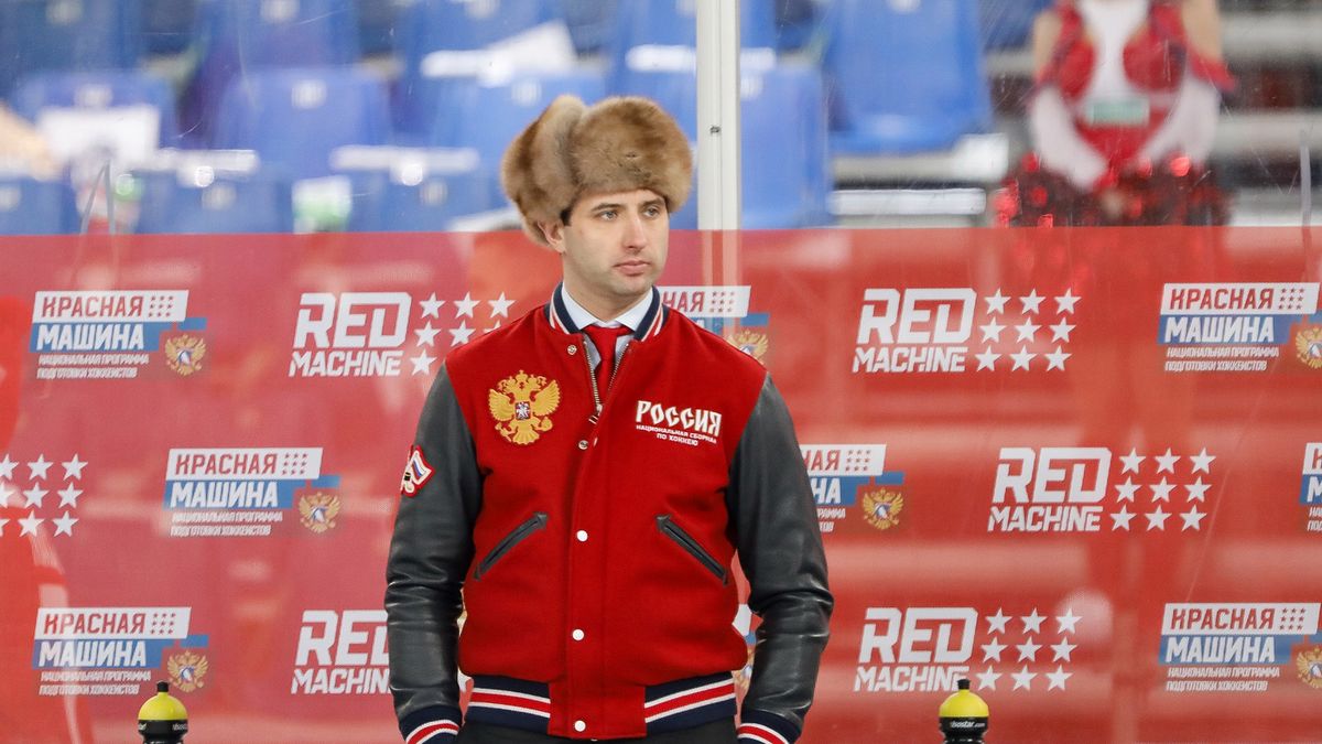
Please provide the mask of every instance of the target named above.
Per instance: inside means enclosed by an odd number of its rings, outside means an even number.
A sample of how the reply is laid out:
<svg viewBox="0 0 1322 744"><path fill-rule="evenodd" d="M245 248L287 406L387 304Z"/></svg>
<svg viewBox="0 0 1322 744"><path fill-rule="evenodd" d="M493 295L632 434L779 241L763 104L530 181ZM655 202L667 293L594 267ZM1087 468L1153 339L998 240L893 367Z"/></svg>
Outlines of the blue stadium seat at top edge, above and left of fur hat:
<svg viewBox="0 0 1322 744"><path fill-rule="evenodd" d="M564 21L559 0L416 0L397 23L403 70L394 101L395 127L423 135L438 109L452 106L463 79L426 75L428 56L475 52L542 24Z"/></svg>

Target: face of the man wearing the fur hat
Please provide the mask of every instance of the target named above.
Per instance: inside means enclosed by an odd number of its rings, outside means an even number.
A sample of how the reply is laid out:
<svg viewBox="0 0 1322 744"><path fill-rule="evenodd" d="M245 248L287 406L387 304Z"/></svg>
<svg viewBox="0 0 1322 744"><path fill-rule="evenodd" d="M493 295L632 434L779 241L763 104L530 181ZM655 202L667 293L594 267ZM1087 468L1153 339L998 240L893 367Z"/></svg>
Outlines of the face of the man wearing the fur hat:
<svg viewBox="0 0 1322 744"><path fill-rule="evenodd" d="M650 291L665 269L670 213L650 189L579 197L567 225L543 225L561 254L564 289L603 320Z"/></svg>

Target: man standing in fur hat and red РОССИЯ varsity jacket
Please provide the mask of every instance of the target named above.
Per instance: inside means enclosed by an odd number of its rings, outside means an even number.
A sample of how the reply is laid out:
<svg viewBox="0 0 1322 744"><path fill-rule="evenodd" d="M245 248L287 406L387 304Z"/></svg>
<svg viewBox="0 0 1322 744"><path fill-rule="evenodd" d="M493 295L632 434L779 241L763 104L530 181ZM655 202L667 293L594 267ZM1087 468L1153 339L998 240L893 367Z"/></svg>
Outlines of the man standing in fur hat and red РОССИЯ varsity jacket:
<svg viewBox="0 0 1322 744"><path fill-rule="evenodd" d="M408 744L802 731L832 596L788 410L653 287L691 168L642 98L561 97L505 154L505 191L563 282L453 351L423 408L386 589ZM738 732L735 553L761 617ZM456 666L473 678L463 727Z"/></svg>

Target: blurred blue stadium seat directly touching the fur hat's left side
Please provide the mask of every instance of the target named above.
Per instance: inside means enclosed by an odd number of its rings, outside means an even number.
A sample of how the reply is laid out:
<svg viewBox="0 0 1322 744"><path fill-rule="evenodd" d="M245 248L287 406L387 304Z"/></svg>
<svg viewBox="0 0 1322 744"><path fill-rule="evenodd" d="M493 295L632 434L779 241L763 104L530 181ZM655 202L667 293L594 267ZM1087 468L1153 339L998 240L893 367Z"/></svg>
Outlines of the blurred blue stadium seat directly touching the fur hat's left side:
<svg viewBox="0 0 1322 744"><path fill-rule="evenodd" d="M505 148L524 127L561 94L572 94L588 105L605 97L600 74L575 71L563 75L520 75L500 85L468 78L456 93L453 111L435 119L428 143L439 147L472 147L481 172L492 177L492 193L500 204L498 168Z"/></svg>

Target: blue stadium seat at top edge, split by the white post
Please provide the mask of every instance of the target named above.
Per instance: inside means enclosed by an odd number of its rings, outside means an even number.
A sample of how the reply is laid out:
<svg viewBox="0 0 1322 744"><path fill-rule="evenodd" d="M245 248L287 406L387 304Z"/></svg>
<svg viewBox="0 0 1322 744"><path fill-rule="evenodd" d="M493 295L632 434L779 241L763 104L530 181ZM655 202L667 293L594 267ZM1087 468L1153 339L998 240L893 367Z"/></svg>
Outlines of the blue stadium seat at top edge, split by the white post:
<svg viewBox="0 0 1322 744"><path fill-rule="evenodd" d="M697 3L698 0L628 0L620 4L609 45L612 91L625 90L627 71L674 70L678 69L676 62L682 50L697 53ZM740 3L739 44L743 49L776 48L775 4L776 0ZM746 57L744 65L748 62Z"/></svg>

